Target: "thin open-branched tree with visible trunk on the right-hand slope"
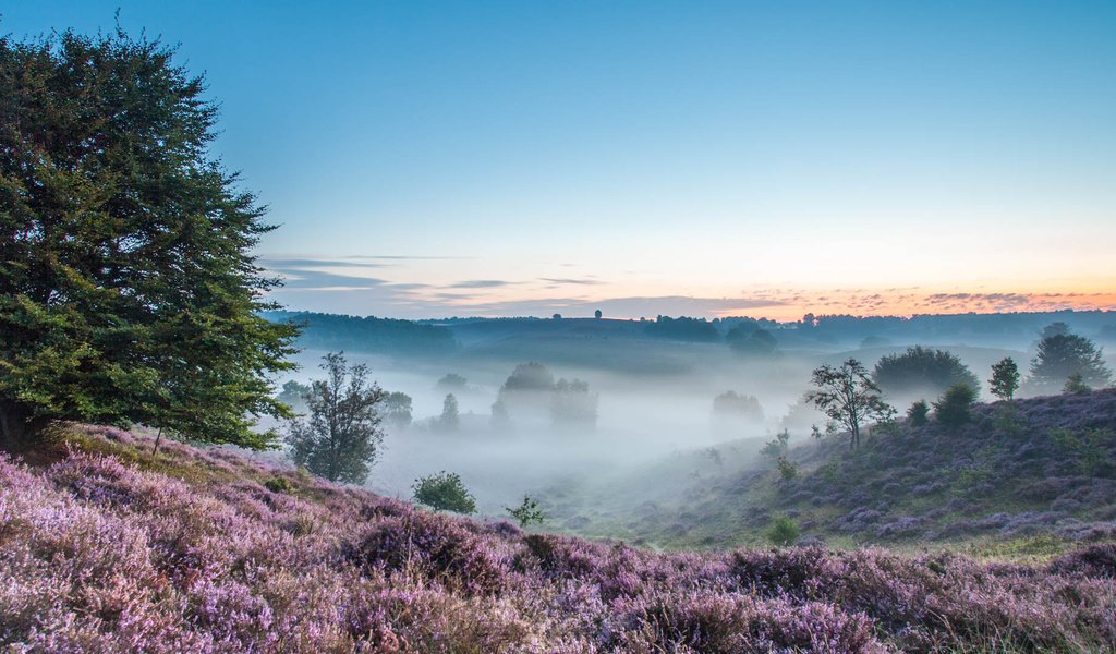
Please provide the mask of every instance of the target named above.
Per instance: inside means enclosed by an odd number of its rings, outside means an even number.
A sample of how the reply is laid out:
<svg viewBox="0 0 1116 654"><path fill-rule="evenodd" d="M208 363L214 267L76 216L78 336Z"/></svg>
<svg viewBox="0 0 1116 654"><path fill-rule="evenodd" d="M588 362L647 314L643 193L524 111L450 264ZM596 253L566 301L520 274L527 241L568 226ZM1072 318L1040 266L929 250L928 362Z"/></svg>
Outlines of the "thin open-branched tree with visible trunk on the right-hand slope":
<svg viewBox="0 0 1116 654"><path fill-rule="evenodd" d="M895 410L879 395L879 387L868 377L864 365L850 358L839 367L824 365L814 371L816 391L806 398L825 413L835 426L849 432L849 446L860 444L860 427L869 422L889 420Z"/></svg>

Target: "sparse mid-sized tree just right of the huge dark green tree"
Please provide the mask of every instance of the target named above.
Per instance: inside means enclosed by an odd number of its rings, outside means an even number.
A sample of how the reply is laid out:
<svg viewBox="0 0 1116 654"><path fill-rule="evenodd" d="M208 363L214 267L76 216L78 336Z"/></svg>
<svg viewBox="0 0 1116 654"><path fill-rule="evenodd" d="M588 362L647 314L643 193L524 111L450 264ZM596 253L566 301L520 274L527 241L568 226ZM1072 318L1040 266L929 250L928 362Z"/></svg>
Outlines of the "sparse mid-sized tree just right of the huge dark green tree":
<svg viewBox="0 0 1116 654"><path fill-rule="evenodd" d="M310 385L309 420L295 421L287 434L295 463L329 481L364 483L376 462L384 433L379 406L385 393L368 381L368 366L349 367L344 353L330 353L325 379Z"/></svg>

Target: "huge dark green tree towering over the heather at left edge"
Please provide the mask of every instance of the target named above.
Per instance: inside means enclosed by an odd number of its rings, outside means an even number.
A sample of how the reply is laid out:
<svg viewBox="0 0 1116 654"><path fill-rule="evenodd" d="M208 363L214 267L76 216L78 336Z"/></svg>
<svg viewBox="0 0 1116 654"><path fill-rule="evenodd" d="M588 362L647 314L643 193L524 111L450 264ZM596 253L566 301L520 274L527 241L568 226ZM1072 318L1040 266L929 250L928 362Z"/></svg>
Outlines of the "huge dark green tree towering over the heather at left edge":
<svg viewBox="0 0 1116 654"><path fill-rule="evenodd" d="M122 31L0 38L0 437L141 423L262 449L297 329L260 316L272 228L210 156L217 105Z"/></svg>

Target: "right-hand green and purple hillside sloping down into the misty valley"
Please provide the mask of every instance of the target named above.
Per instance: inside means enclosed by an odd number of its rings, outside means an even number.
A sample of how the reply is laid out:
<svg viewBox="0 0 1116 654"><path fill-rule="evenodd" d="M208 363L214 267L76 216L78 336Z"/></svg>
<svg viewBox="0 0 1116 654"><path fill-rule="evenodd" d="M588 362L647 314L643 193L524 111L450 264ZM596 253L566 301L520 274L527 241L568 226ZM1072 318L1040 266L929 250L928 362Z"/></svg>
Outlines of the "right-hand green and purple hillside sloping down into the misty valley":
<svg viewBox="0 0 1116 654"><path fill-rule="evenodd" d="M778 516L796 520L807 542L844 546L1042 551L1116 538L1116 389L978 404L972 415L959 429L901 421L856 451L843 434L801 442L787 453L793 479L773 461L741 459L741 443L674 456L674 502L656 491L654 504L624 520L603 509L597 522L577 514L566 525L671 548L761 544ZM615 497L598 490L577 506L607 507ZM577 517L560 502L552 508Z"/></svg>

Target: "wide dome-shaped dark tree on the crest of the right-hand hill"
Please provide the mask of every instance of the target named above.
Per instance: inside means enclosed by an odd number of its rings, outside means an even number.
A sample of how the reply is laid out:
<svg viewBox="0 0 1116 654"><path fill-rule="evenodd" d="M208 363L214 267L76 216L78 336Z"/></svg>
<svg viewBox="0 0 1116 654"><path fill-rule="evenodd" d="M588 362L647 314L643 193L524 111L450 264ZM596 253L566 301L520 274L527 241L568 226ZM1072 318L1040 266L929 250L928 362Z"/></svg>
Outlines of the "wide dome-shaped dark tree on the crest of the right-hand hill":
<svg viewBox="0 0 1116 654"><path fill-rule="evenodd" d="M872 379L888 396L937 395L954 384L978 385L977 375L955 355L921 345L882 357Z"/></svg>

